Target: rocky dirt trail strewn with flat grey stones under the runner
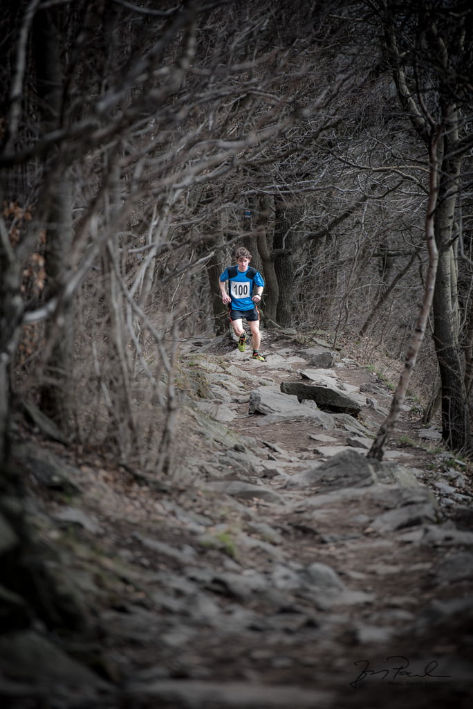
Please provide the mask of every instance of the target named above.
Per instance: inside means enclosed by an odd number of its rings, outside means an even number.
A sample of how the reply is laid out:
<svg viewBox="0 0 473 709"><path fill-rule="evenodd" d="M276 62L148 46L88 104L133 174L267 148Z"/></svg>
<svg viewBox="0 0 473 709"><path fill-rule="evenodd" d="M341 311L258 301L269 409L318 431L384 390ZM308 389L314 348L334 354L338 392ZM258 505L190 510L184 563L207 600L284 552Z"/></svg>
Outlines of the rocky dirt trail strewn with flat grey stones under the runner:
<svg viewBox="0 0 473 709"><path fill-rule="evenodd" d="M18 448L93 632L1 636L2 706L472 705L471 469L409 403L367 459L382 381L315 338L266 333L263 352L183 342L169 479Z"/></svg>

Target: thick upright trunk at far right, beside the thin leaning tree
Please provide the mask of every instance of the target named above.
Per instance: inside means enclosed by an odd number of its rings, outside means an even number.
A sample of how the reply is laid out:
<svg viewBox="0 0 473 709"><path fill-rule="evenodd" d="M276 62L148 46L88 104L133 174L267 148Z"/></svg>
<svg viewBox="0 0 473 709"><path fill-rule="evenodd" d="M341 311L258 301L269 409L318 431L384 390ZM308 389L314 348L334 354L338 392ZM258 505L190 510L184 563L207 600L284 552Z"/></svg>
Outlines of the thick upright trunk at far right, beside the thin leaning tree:
<svg viewBox="0 0 473 709"><path fill-rule="evenodd" d="M447 82L452 57L455 65L469 66L471 64L470 45L467 43L467 32L457 35L455 45L450 40L449 33L438 31L435 12L428 20L427 27L421 30L418 39L423 42L423 55L414 56L411 65L412 74L418 76L417 62L430 52L435 57L436 71L431 75L431 85L425 85L426 94L421 96L421 87L416 85L414 92L410 88L409 78L404 72L406 56L398 49L397 26L394 15L390 15L390 6L385 4L386 24L385 38L393 60L394 82L401 106L411 119L414 130L422 140L428 140L428 130L431 114L426 106L437 107L438 115L444 123L444 133L438 145L436 156L439 167L438 178L438 210L435 216L435 241L437 243L439 261L438 275L433 295L433 340L437 354L442 384L442 435L443 440L453 450L462 450L470 445L471 421L465 389L465 367L462 362L462 352L459 344L459 301L457 293L457 255L454 247L454 219L457 195L459 193L460 168L462 155L467 155L469 142L463 145L459 140L460 125L464 121L463 108L460 102L455 105L454 96L464 91L462 72L457 69L456 81ZM442 12L445 9L442 10ZM426 16L423 17L426 21ZM465 16L457 16L455 21L465 28ZM421 24L421 23L419 23ZM401 35L399 35L400 37ZM452 52L452 55L450 55ZM441 71L439 72L439 69ZM417 96L417 103L415 101ZM462 128L463 135L465 130ZM430 151L429 151L430 152Z"/></svg>

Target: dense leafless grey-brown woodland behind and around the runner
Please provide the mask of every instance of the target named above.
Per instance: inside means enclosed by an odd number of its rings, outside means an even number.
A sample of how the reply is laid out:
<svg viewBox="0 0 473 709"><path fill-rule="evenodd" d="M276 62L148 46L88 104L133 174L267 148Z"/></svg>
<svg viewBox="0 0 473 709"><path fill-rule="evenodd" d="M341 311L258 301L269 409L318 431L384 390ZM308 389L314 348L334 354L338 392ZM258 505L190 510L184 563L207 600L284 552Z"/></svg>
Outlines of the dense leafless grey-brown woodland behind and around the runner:
<svg viewBox="0 0 473 709"><path fill-rule="evenodd" d="M169 472L179 342L226 331L236 245L263 328L411 347L471 452L469 3L30 0L0 28L1 462L28 403Z"/></svg>

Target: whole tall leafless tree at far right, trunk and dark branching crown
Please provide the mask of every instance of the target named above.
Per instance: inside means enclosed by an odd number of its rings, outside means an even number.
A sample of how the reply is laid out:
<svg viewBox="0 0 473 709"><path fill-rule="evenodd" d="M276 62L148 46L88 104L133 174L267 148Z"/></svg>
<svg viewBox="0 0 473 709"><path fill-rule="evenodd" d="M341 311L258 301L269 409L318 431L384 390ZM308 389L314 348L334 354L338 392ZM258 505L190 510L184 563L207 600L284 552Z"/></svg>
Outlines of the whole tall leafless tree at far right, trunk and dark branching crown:
<svg viewBox="0 0 473 709"><path fill-rule="evenodd" d="M458 289L464 264L458 245L463 238L459 221L462 164L472 150L469 67L473 11L462 3L418 6L375 1L370 5L384 30L401 107L426 146L430 164L431 135L438 125L443 126L435 144L438 201L433 228L438 275L433 294L433 340L442 384L443 439L454 450L468 450L472 447L472 419L465 387ZM471 296L465 295L471 306Z"/></svg>

